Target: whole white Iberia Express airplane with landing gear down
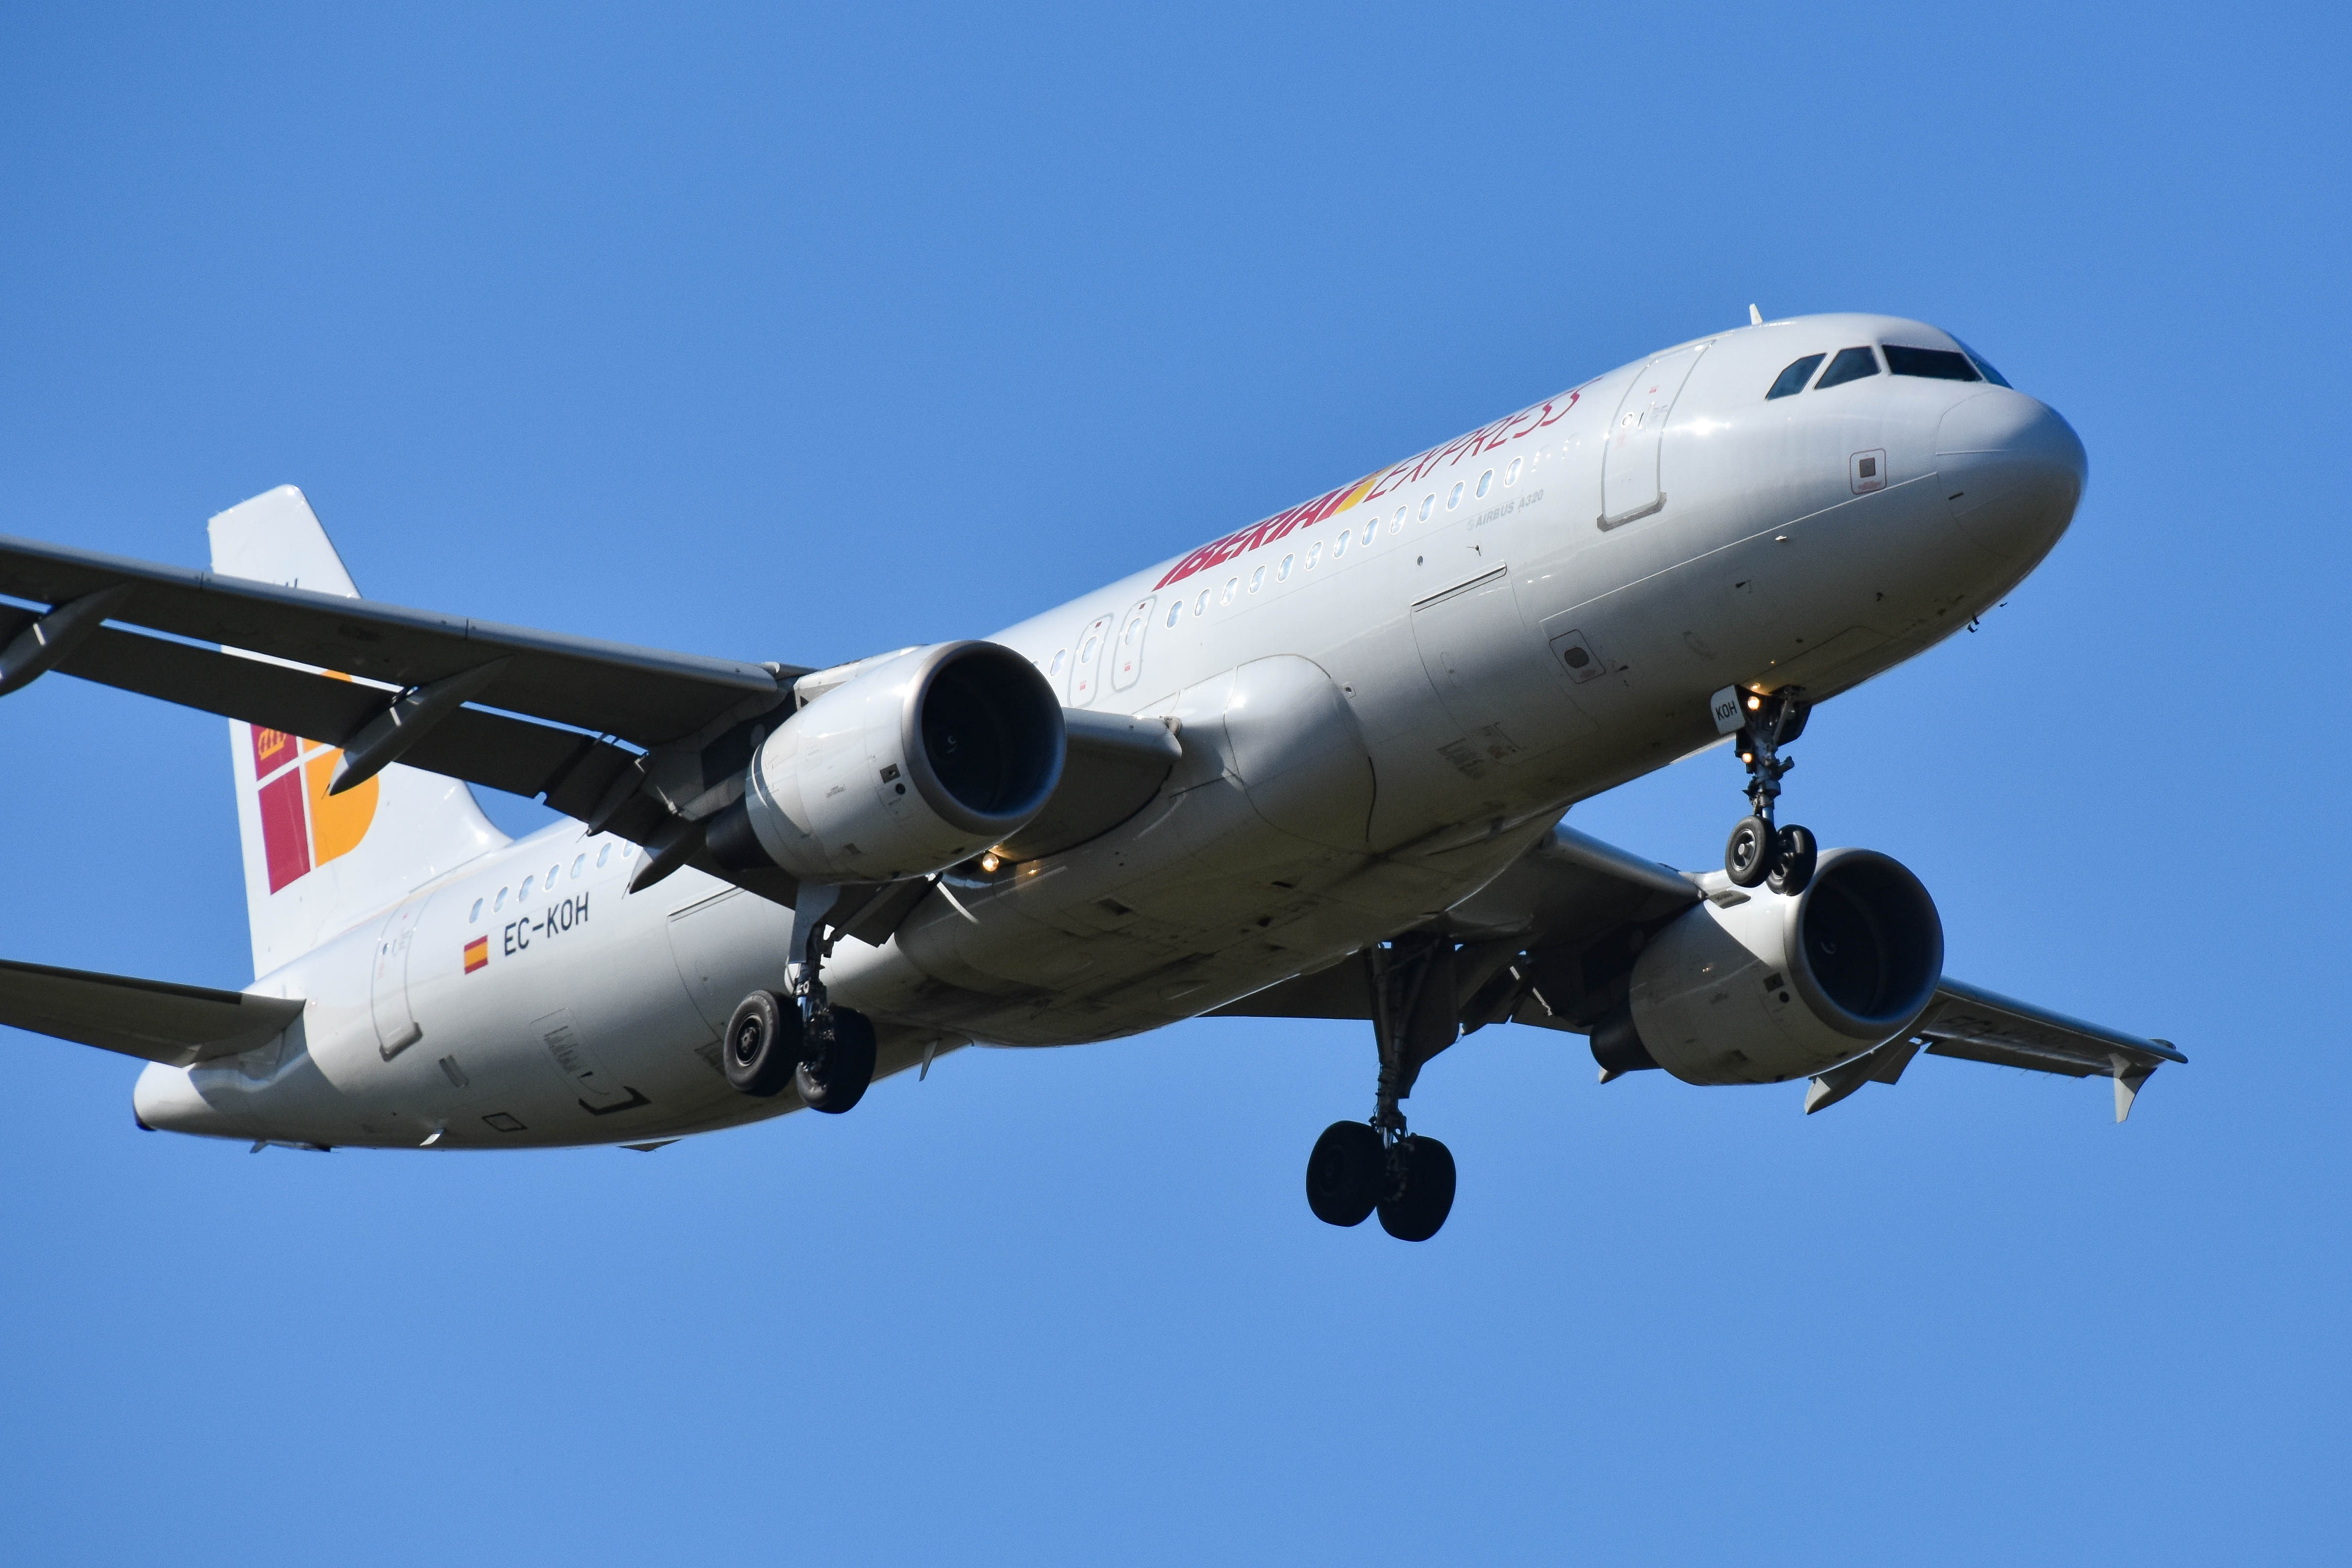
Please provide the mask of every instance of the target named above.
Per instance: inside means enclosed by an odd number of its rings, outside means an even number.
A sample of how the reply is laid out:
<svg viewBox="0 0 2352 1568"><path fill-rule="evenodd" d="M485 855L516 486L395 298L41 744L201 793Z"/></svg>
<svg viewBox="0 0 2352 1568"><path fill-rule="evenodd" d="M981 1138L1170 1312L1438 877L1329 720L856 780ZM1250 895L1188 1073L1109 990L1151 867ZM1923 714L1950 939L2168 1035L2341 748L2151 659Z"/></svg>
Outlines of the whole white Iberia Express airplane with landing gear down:
<svg viewBox="0 0 2352 1568"><path fill-rule="evenodd" d="M0 1023L146 1058L141 1128L252 1147L656 1150L967 1044L1371 1025L1310 1211L1437 1234L1423 1067L1498 1023L1599 1081L1922 1051L2185 1056L1943 973L1922 882L1778 820L1813 710L1997 604L2074 517L2074 430L1924 322L1665 348L990 639L811 670L379 604L299 489L212 569L0 538L0 696L226 715L254 983L0 964ZM1731 743L1722 867L1562 818ZM468 785L562 823L508 839ZM873 1114L873 1112L868 1112Z"/></svg>

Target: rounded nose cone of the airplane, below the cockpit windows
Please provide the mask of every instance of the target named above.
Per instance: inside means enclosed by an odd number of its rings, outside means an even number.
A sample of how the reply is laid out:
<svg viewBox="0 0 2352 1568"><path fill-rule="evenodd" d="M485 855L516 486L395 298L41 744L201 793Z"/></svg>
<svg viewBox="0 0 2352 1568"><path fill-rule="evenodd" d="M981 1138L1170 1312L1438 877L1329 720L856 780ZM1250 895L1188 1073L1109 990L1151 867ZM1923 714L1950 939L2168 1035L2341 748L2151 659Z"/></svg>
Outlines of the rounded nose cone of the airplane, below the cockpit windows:
<svg viewBox="0 0 2352 1568"><path fill-rule="evenodd" d="M2074 520L2091 461L2053 407L1987 388L1952 404L1936 430L1945 505L1976 545L2042 559Z"/></svg>

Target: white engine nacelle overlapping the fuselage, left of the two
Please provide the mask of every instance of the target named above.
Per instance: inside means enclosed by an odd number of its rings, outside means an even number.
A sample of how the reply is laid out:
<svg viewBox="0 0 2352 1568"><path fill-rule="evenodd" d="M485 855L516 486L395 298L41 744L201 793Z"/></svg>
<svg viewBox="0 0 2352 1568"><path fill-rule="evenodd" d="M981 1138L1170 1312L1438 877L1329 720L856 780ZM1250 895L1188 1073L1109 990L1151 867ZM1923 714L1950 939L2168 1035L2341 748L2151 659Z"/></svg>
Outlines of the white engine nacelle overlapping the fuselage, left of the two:
<svg viewBox="0 0 2352 1568"><path fill-rule="evenodd" d="M1061 703L995 642L875 661L786 719L706 844L731 870L896 882L967 860L1037 816L1063 764Z"/></svg>

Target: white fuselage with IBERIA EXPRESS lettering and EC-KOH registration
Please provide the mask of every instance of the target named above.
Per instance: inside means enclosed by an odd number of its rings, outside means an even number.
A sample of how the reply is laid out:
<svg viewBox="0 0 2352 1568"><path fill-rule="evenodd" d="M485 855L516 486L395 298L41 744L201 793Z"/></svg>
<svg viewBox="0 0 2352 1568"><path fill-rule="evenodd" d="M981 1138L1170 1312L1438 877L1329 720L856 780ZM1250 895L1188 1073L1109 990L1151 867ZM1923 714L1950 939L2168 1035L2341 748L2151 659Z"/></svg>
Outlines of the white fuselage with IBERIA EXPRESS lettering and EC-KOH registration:
<svg viewBox="0 0 2352 1568"><path fill-rule="evenodd" d="M1886 341L1950 348L1872 315L1726 331L1009 628L1068 708L1176 719L1183 759L1108 835L842 940L833 999L884 1072L1190 1018L1461 903L1708 745L1710 693L1820 701L1966 625L2065 529L2082 447L1985 381L1764 397ZM633 853L564 825L419 889L252 987L308 999L285 1039L151 1067L141 1119L485 1147L790 1110L717 1070L736 1001L783 985L790 910L696 872L630 896Z"/></svg>

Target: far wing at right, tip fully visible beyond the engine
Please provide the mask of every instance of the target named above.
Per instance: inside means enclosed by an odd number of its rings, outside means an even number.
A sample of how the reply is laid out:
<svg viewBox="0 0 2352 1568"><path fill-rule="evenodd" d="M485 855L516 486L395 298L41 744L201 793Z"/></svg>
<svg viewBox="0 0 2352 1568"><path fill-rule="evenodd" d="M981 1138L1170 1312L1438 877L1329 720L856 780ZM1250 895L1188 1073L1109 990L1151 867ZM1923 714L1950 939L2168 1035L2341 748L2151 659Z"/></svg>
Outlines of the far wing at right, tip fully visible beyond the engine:
<svg viewBox="0 0 2352 1568"><path fill-rule="evenodd" d="M1602 1013L1623 1001L1639 936L1698 898L1696 879L1684 872L1562 823L1428 931L1458 943L1451 973L1465 1034L1503 1018L1590 1034ZM1371 992L1359 964L1336 964L1216 1009L1216 1016L1371 1018ZM2169 1039L2124 1034L1945 976L1907 1034L1813 1077L1806 1114L1863 1084L1893 1084L1919 1051L2027 1072L2110 1077L2117 1121L2157 1067L2187 1060Z"/></svg>

